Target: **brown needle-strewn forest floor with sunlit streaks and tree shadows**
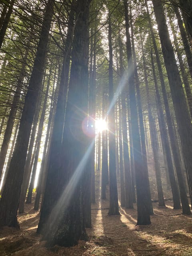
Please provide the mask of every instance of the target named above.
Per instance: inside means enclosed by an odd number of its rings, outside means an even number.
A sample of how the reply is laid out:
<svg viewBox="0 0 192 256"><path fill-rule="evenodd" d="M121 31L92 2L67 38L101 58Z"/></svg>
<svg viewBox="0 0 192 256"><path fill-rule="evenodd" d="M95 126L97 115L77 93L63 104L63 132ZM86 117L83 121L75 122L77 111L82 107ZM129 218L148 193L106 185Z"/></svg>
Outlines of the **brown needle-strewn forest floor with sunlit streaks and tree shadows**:
<svg viewBox="0 0 192 256"><path fill-rule="evenodd" d="M30 204L18 217L20 230L4 228L0 231L0 256L192 255L192 215L184 216L182 210L173 210L172 200L166 201L166 207L153 203L151 225L136 226L136 204L134 209L120 207L119 216L108 216L109 201L100 200L99 182L96 188L87 242L80 241L72 248L46 249L45 242L36 234L40 214Z"/></svg>

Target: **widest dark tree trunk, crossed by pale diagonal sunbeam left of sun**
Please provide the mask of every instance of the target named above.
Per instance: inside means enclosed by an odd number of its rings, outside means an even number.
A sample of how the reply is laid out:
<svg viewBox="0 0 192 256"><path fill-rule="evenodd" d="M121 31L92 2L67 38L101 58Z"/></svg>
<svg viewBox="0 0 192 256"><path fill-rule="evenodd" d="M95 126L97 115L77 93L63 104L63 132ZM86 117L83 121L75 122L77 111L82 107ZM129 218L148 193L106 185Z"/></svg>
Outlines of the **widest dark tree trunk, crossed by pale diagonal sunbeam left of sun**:
<svg viewBox="0 0 192 256"><path fill-rule="evenodd" d="M47 246L74 246L86 235L82 216L82 177L89 159L86 113L88 107L88 18L90 1L76 2L76 26L62 145L55 144L62 132L54 123L50 147L48 177L38 232ZM62 118L62 117L60 117ZM84 122L83 122L84 121ZM82 122L85 124L83 132ZM66 150L67 149L67 150ZM59 151L58 151L59 150ZM75 158L74 158L75 156ZM51 221L49 221L49 218Z"/></svg>

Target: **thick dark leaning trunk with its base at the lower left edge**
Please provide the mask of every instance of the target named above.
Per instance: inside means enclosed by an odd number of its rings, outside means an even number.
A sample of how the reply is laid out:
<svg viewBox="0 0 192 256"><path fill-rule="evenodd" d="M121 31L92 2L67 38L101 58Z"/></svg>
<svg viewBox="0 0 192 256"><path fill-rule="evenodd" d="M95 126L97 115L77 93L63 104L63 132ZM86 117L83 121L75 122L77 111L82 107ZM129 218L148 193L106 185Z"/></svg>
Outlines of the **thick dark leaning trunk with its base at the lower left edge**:
<svg viewBox="0 0 192 256"><path fill-rule="evenodd" d="M54 0L49 0L46 6L36 59L20 120L18 137L8 170L6 186L4 186L4 190L2 191L2 198L0 201L0 226L19 227L17 212L20 189L38 91L42 84L43 64L46 58L49 31L53 15L53 3Z"/></svg>

